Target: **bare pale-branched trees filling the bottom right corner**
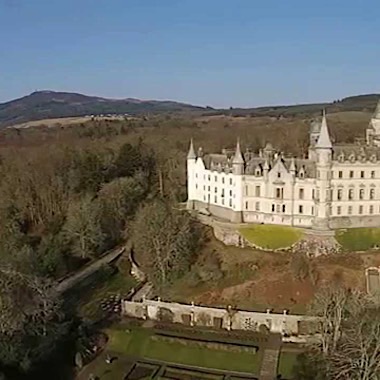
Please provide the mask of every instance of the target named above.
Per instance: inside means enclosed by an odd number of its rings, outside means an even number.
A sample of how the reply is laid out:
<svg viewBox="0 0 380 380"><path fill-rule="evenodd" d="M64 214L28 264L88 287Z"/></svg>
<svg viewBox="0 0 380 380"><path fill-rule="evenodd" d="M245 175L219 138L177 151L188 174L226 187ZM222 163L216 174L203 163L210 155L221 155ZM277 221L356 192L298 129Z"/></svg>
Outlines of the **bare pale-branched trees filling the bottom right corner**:
<svg viewBox="0 0 380 380"><path fill-rule="evenodd" d="M360 292L329 287L317 293L312 312L321 317L321 342L303 356L296 378L380 378L379 305Z"/></svg>

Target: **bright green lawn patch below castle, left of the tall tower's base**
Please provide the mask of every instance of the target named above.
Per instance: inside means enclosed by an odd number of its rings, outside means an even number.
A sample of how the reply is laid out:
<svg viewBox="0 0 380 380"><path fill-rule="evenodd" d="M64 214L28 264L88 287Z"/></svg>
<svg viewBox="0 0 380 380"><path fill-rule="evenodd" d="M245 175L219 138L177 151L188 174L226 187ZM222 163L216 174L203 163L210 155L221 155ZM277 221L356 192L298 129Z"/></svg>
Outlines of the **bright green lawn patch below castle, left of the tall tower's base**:
<svg viewBox="0 0 380 380"><path fill-rule="evenodd" d="M302 232L296 228L266 224L243 227L240 233L249 242L264 249L287 248L302 237Z"/></svg>

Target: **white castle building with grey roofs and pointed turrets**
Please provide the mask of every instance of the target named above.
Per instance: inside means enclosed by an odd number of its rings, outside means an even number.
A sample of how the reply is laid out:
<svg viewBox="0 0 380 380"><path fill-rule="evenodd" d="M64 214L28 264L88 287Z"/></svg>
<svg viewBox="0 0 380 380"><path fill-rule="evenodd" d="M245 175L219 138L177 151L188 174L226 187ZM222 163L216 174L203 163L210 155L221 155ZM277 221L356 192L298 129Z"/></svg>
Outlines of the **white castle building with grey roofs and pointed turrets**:
<svg viewBox="0 0 380 380"><path fill-rule="evenodd" d="M328 230L380 226L380 102L362 144L332 144L326 121L310 126L308 158L286 158L267 144L258 154L187 156L191 210L241 223Z"/></svg>

